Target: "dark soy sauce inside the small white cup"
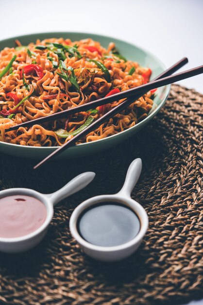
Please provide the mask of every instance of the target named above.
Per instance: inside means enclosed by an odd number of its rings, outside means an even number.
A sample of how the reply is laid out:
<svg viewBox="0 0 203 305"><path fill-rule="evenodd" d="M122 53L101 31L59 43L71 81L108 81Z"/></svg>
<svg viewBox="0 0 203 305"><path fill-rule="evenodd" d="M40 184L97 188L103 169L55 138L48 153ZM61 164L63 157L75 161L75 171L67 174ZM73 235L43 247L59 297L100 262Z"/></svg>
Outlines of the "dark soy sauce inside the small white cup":
<svg viewBox="0 0 203 305"><path fill-rule="evenodd" d="M133 210L117 202L102 202L84 210L77 228L87 242L112 247L132 240L140 229L138 216Z"/></svg>

